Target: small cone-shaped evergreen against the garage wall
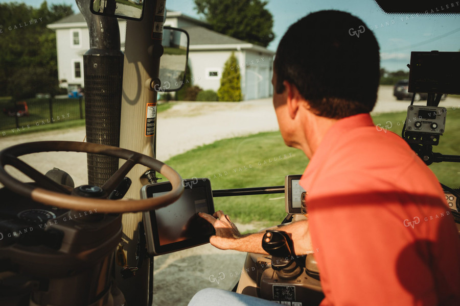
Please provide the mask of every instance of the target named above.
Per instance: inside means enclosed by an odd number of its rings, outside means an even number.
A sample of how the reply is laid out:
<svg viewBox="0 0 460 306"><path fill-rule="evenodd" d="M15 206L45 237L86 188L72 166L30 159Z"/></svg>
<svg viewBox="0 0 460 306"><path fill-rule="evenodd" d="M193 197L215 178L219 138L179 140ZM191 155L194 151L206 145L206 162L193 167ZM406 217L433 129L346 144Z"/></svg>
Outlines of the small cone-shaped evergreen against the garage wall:
<svg viewBox="0 0 460 306"><path fill-rule="evenodd" d="M241 101L240 69L233 52L225 62L217 96L219 97L219 101Z"/></svg>

